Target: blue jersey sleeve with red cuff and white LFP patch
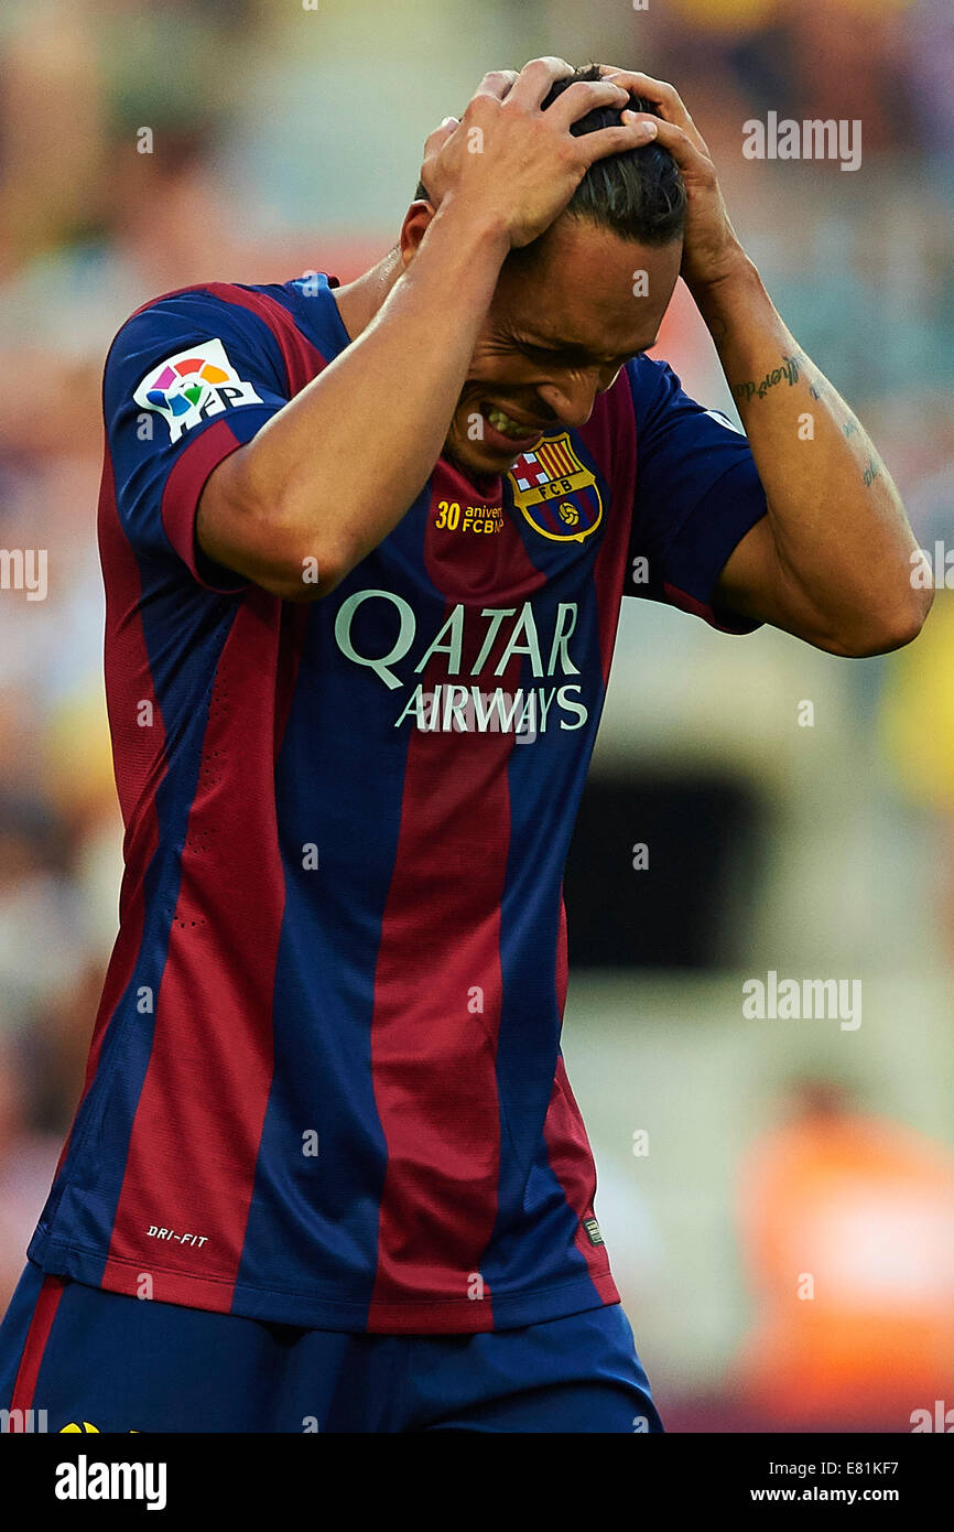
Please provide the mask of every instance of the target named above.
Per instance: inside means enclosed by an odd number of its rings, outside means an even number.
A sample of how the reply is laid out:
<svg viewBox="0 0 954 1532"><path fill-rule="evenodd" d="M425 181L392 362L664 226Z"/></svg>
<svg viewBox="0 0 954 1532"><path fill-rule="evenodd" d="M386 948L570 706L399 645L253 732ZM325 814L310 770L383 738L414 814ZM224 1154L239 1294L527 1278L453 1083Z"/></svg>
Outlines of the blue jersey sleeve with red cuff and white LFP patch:
<svg viewBox="0 0 954 1532"><path fill-rule="evenodd" d="M201 290L133 314L103 380L116 513L139 558L172 561L208 590L248 581L202 553L196 510L210 473L256 435L289 391L268 325Z"/></svg>

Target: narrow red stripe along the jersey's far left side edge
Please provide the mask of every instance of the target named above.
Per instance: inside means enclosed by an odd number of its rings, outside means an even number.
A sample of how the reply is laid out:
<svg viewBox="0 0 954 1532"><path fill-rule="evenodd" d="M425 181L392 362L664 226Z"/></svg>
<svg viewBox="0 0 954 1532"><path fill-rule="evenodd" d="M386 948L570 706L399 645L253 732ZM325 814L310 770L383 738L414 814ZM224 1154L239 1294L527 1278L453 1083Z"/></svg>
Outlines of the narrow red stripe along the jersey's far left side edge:
<svg viewBox="0 0 954 1532"><path fill-rule="evenodd" d="M156 791L165 775L165 726L142 633L139 564L119 522L109 446L103 450L98 538L103 567L110 571L106 590L104 668L116 794L124 826L124 870L119 933L106 970L80 1102L92 1085L106 1030L136 970L145 921L144 878L159 844ZM144 702L152 705L152 728L139 728ZM72 1129L63 1144L57 1175L70 1140Z"/></svg>

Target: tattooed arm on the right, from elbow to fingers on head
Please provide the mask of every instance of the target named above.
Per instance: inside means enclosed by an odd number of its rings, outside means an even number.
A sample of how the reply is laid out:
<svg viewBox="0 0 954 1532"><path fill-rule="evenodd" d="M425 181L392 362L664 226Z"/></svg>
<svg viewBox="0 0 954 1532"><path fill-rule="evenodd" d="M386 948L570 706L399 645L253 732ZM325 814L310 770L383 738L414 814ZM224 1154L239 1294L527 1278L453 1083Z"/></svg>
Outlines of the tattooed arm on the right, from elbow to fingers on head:
<svg viewBox="0 0 954 1532"><path fill-rule="evenodd" d="M833 654L908 643L933 591L911 582L917 544L887 467L775 311L672 86L608 74L662 112L658 142L675 156L689 196L681 274L715 342L766 492L767 515L729 558L720 604Z"/></svg>

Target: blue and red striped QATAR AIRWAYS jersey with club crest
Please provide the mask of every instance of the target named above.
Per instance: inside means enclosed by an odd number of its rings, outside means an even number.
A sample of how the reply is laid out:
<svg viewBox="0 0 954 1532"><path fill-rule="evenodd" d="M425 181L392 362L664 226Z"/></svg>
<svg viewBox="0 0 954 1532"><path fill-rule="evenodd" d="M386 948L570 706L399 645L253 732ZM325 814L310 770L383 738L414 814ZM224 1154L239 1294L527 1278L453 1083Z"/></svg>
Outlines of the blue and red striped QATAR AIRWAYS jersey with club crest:
<svg viewBox="0 0 954 1532"><path fill-rule="evenodd" d="M119 933L29 1255L305 1327L525 1325L619 1301L560 1026L620 597L749 631L714 588L766 501L640 357L505 476L439 458L325 599L268 594L196 506L349 343L335 285L187 290L110 349Z"/></svg>

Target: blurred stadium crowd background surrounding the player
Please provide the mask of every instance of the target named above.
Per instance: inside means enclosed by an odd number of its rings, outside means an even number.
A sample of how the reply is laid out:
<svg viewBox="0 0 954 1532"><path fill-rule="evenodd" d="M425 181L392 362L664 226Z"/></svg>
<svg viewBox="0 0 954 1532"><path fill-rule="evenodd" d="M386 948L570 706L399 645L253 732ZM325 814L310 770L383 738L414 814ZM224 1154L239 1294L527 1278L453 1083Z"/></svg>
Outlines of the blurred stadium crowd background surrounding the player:
<svg viewBox="0 0 954 1532"><path fill-rule="evenodd" d="M116 927L95 501L133 308L357 274L488 67L643 67L681 90L919 541L954 542L949 0L308 6L0 9L0 547L49 550L46 601L0 591L0 1307ZM769 110L861 119L862 169L746 161ZM660 354L732 411L684 293ZM625 607L567 881L565 1054L637 1344L672 1429L908 1431L954 1406L954 597L861 662ZM861 979L861 1026L746 1020L769 970Z"/></svg>

